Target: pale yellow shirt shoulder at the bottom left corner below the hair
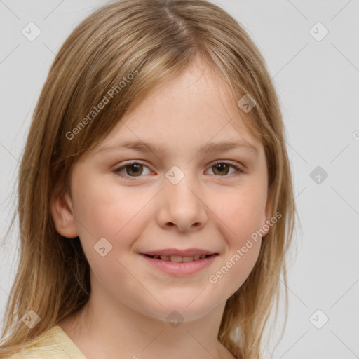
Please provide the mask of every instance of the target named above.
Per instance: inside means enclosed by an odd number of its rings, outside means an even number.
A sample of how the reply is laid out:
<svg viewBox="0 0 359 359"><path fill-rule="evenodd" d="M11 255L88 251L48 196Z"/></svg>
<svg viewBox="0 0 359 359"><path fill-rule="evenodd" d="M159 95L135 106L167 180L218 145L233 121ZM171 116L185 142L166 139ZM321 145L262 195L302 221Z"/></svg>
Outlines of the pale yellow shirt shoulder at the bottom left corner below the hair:
<svg viewBox="0 0 359 359"><path fill-rule="evenodd" d="M86 359L86 356L62 328L55 325L36 337L30 346L9 357L9 359L20 358Z"/></svg>

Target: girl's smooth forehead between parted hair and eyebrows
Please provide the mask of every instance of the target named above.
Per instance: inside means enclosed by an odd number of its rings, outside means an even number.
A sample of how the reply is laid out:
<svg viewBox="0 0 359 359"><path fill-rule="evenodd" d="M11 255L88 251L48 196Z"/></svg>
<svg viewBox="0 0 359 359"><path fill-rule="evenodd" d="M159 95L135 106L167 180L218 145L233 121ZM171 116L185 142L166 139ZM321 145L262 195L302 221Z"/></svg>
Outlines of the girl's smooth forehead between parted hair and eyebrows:
<svg viewBox="0 0 359 359"><path fill-rule="evenodd" d="M221 141L261 147L245 127L241 110L233 106L226 83L203 62L194 62L135 100L100 148L118 140L158 142L176 150L198 150L198 144Z"/></svg>

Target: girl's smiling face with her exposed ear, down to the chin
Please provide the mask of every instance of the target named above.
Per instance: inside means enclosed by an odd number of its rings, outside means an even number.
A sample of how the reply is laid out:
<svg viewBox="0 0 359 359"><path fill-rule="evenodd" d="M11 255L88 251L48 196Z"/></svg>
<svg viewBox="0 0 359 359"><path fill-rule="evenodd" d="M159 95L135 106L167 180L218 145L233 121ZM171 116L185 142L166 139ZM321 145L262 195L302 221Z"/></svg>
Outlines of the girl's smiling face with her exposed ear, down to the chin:
<svg viewBox="0 0 359 359"><path fill-rule="evenodd" d="M266 158L223 86L197 64L156 88L76 162L67 205L52 205L57 231L79 236L109 302L195 320L255 265L261 237L248 238L269 219Z"/></svg>

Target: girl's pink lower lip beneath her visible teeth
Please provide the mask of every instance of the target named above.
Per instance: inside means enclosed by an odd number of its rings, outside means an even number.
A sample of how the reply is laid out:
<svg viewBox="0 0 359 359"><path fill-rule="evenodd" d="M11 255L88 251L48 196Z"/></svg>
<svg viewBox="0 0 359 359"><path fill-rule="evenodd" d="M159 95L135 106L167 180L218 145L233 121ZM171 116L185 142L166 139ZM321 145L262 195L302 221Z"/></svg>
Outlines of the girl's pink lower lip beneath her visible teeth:
<svg viewBox="0 0 359 359"><path fill-rule="evenodd" d="M164 271L165 273L172 274L172 276L189 276L212 264L217 255L211 255L210 257L187 263L174 263L171 261L147 257L147 255L142 255L142 257L144 257L149 264L152 264L152 266L157 269L161 269L161 271Z"/></svg>

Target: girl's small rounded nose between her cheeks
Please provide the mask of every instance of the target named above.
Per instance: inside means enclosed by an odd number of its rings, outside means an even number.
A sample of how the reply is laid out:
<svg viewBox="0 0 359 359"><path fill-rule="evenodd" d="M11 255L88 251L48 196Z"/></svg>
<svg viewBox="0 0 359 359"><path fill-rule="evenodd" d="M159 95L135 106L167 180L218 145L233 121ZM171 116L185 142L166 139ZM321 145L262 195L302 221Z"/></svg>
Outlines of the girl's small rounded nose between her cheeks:
<svg viewBox="0 0 359 359"><path fill-rule="evenodd" d="M177 184L165 178L159 202L157 222L165 229L177 227L181 232L198 231L208 221L203 191L188 173Z"/></svg>

